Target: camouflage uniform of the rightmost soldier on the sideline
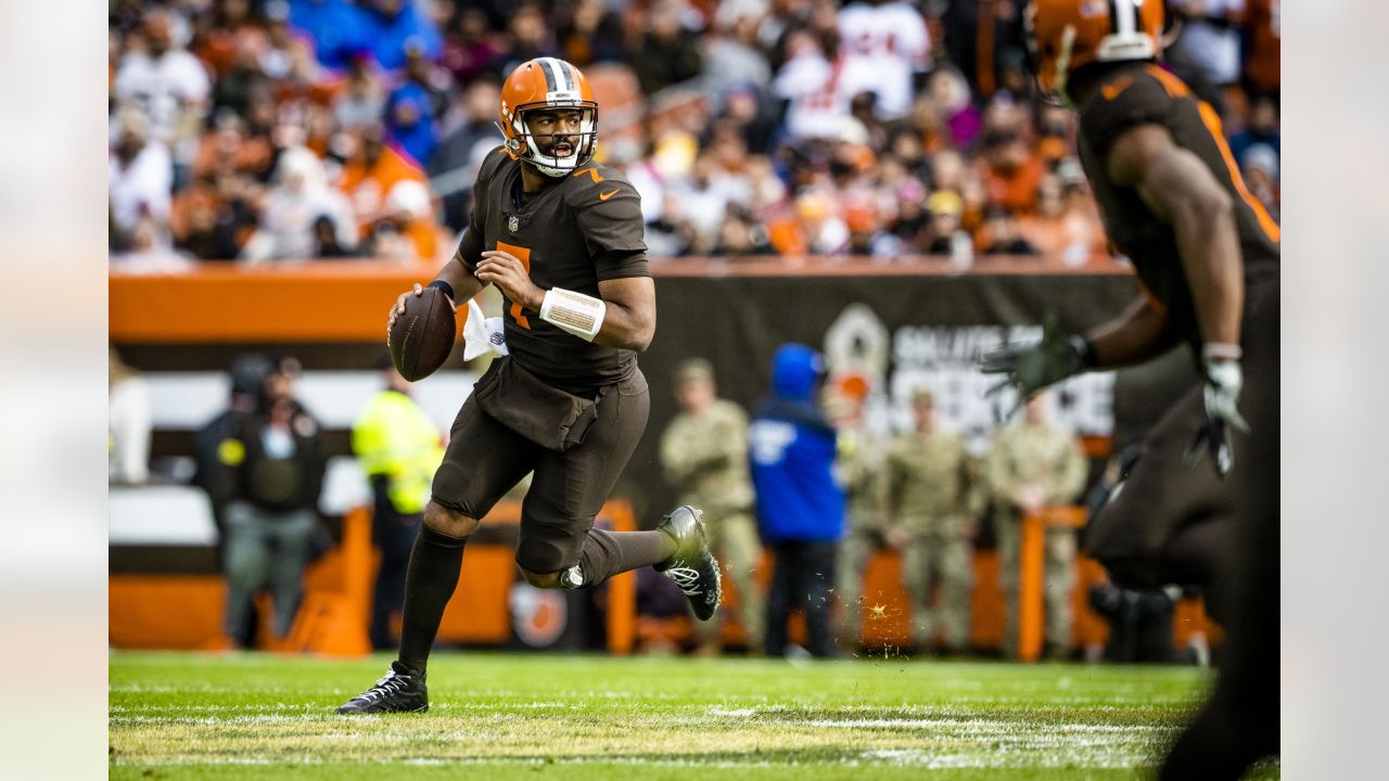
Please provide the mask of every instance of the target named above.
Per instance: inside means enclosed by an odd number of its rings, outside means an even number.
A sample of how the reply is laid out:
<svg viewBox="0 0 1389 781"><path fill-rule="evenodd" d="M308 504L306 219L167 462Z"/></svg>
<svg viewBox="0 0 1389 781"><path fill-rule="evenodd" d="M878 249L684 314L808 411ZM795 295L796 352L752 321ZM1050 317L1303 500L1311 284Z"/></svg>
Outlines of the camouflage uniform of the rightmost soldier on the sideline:
<svg viewBox="0 0 1389 781"><path fill-rule="evenodd" d="M1085 454L1075 434L1050 422L1017 425L995 434L986 460L989 486L996 498L995 531L999 574L1007 599L1003 643L1015 656L1018 642L1018 546L1022 516L1014 503L1018 489L1036 485L1045 506L1075 502L1085 488ZM1071 592L1075 591L1075 529L1046 532L1046 639L1056 649L1071 646Z"/></svg>

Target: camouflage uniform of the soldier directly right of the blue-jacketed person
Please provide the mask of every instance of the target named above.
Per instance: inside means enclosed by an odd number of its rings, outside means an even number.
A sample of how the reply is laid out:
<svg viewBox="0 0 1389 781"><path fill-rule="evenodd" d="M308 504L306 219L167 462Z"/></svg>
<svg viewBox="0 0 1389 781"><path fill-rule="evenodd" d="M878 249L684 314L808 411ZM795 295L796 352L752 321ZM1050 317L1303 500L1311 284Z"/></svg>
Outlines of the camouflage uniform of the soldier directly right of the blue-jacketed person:
<svg viewBox="0 0 1389 781"><path fill-rule="evenodd" d="M857 643L863 630L864 571L872 554L883 548L885 518L878 492L882 446L865 429L839 432L839 477L849 493L849 534L839 545L835 589L843 605L842 634Z"/></svg>

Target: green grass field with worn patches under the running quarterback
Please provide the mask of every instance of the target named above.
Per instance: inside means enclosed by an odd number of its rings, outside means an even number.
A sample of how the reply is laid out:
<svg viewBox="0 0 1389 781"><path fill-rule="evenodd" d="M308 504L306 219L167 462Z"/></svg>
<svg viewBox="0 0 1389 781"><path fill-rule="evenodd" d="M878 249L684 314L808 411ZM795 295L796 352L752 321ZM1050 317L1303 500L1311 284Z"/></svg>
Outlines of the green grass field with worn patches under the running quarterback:
<svg viewBox="0 0 1389 781"><path fill-rule="evenodd" d="M1207 684L1170 667L440 653L429 713L332 713L388 663L113 653L111 778L1147 778Z"/></svg>

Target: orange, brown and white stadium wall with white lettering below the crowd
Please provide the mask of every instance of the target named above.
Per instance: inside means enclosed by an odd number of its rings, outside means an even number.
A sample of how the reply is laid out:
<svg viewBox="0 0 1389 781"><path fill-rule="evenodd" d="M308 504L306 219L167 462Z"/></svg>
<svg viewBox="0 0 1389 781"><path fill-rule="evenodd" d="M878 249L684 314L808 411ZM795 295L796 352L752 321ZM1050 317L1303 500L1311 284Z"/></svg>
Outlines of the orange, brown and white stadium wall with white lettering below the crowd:
<svg viewBox="0 0 1389 781"><path fill-rule="evenodd" d="M993 382L974 370L975 353L1003 339L1035 336L1049 317L1067 331L1089 328L1135 295L1128 268L1118 263L1072 270L1003 258L958 272L931 258L886 265L856 258L679 260L654 264L654 271L657 338L640 359L651 384L651 424L617 491L643 527L675 502L661 478L657 442L676 411L672 368L686 357L711 360L720 393L751 409L767 386L775 349L807 343L825 352L835 389L865 395L871 427L907 428L911 392L925 386L936 393L950 425L982 447L1013 399L983 397ZM204 264L169 274L113 270L111 340L164 397L156 404L153 454L186 459L192 432L221 410L222 372L236 354L294 354L306 368L304 402L321 418L335 457L322 510L331 528L340 529L365 495L347 434L353 411L376 389L371 367L385 354L383 314L400 290L432 274L376 261ZM421 402L442 427L481 368L464 365L456 354L450 370L418 385ZM1060 389L1057 414L1100 457L1117 432L1146 428L1142 418L1160 411L1189 377L1179 354L1157 370L1086 375ZM126 510L119 518L113 514L114 575L165 570L158 563L172 552L181 561L178 574L215 574L215 556L203 539L207 529L199 528L207 521L189 523L196 514L175 513L179 517L163 525L150 524L139 507ZM988 550L981 554L988 560ZM117 611L113 602L113 617ZM996 620L985 605L976 613L985 620L975 639L992 645L1001 616ZM896 635L893 628L882 627L883 635ZM1092 631L1082 627L1079 634Z"/></svg>

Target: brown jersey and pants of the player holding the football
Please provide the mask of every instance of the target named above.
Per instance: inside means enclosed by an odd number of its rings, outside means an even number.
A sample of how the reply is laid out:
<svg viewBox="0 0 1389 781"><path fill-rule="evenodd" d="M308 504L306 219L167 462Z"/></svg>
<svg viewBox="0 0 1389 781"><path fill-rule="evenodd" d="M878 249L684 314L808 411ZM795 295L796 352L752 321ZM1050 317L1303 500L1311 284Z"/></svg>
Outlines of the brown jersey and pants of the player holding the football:
<svg viewBox="0 0 1389 781"><path fill-rule="evenodd" d="M649 277L640 199L618 172L581 168L525 193L522 163L496 149L478 171L474 208L457 258L469 270L483 250L518 257L540 288L599 296L599 282ZM646 428L646 379L631 350L585 342L504 302L510 356L492 361L453 424L433 478L433 499L481 518L526 472L517 563L533 573L575 566ZM486 400L496 407L485 409ZM585 409L585 428L564 420ZM499 410L510 413L499 418ZM572 424L569 441L538 441ZM568 431L568 428L565 428Z"/></svg>

